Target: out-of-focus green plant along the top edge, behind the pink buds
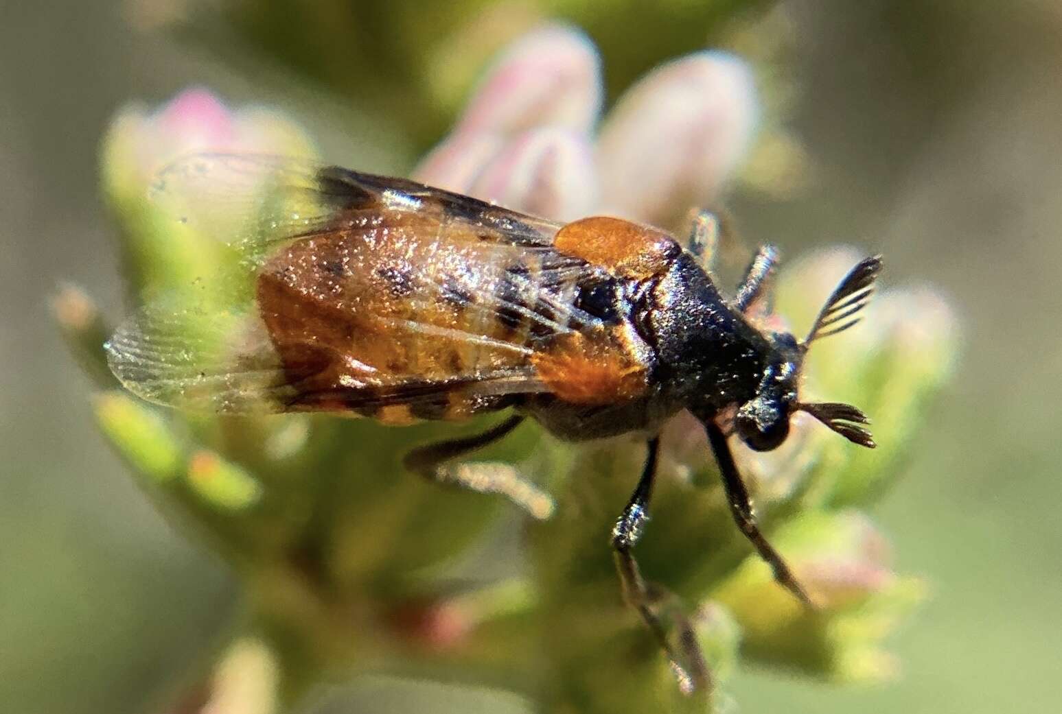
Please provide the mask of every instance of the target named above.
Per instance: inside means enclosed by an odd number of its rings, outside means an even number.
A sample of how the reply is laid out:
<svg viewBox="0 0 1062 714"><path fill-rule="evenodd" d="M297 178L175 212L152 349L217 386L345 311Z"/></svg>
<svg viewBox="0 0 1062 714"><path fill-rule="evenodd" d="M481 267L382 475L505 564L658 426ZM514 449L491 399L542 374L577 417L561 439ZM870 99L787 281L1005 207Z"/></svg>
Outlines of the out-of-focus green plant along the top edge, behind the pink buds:
<svg viewBox="0 0 1062 714"><path fill-rule="evenodd" d="M256 79L269 65L293 72L302 84L310 80L344 104L375 108L424 142L459 112L484 63L546 18L586 31L606 58L604 76L617 95L657 63L706 47L735 17L768 4L127 0L126 6L139 27L166 28L246 66Z"/></svg>

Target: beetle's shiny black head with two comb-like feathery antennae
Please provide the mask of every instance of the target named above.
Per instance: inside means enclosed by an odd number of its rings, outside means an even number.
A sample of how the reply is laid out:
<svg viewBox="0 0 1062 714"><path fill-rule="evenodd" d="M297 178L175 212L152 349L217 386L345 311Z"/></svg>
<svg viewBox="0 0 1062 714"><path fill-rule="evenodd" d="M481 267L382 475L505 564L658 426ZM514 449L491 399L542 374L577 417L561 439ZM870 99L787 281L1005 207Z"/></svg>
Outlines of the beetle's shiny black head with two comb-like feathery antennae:
<svg viewBox="0 0 1062 714"><path fill-rule="evenodd" d="M755 396L741 404L734 415L734 430L750 448L770 451L781 446L789 435L789 418L794 412L806 412L850 441L874 448L874 439L861 425L870 423L867 415L851 404L801 402L798 383L804 355L811 343L859 321L857 313L870 301L880 269L879 256L853 267L826 300L803 342L798 342L788 332L768 335L772 349Z"/></svg>

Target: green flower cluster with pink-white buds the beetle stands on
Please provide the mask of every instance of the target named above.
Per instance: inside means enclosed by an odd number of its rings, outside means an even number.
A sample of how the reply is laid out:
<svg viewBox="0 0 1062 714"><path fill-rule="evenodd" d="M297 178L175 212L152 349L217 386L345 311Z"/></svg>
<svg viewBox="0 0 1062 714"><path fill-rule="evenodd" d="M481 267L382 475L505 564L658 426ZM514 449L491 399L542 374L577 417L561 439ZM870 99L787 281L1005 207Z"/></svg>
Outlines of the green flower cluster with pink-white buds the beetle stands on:
<svg viewBox="0 0 1062 714"><path fill-rule="evenodd" d="M570 81L554 84L554 75ZM716 201L756 122L747 67L719 53L652 71L595 133L601 94L585 37L535 31L494 64L415 176L562 221L607 211L675 226L691 206ZM204 147L313 153L282 117L233 111L203 91L155 112L123 112L104 142L103 176L134 301L198 286L218 260L224 237L196 234L145 199L157 167ZM781 313L809 323L852 262L835 249L784 271ZM507 507L423 483L399 463L411 445L460 428L161 411L113 389L101 368L105 329L86 296L67 290L56 308L106 389L96 402L103 433L159 507L201 530L242 580L245 615L196 690L195 711L287 711L311 685L352 673L503 686L551 712L718 704L713 692L680 691L621 600L609 534L644 457L639 440L571 447L529 423L477 454L538 476L556 509L524 525L526 572L459 579L458 558ZM817 612L750 554L702 432L684 417L667 426L656 518L638 555L690 613L714 692L740 661L838 681L894 672L880 643L922 587L893 573L884 537L855 508L898 471L949 371L953 343L953 318L935 294L887 292L859 329L811 351L804 387L866 407L881 447L857 450L798 415L775 452L738 448L765 527L823 603Z"/></svg>

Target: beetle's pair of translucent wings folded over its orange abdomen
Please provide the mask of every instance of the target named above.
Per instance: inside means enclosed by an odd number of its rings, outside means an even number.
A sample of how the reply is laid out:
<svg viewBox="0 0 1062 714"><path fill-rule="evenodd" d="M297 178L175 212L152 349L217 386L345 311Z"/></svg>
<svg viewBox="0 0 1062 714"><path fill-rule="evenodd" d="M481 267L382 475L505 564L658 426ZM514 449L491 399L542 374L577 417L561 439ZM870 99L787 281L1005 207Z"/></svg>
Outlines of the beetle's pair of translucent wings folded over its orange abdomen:
<svg viewBox="0 0 1062 714"><path fill-rule="evenodd" d="M117 331L112 368L152 401L457 418L543 390L539 344L599 324L572 307L597 268L553 250L556 224L467 196L251 155L182 159L151 195L232 246L204 285L247 283L184 292Z"/></svg>

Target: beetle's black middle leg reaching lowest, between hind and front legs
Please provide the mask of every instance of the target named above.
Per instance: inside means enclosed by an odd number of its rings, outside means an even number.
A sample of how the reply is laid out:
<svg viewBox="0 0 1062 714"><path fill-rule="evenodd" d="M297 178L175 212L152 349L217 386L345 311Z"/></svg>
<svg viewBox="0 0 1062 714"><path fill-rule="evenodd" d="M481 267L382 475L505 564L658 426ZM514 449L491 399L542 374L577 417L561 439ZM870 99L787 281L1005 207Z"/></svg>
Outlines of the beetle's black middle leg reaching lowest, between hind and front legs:
<svg viewBox="0 0 1062 714"><path fill-rule="evenodd" d="M641 577L638 561L632 553L641 537L646 521L649 520L649 501L652 498L653 480L656 475L660 438L650 439L648 447L649 452L638 485L612 530L616 569L619 571L623 596L638 611L641 620L649 626L653 637L667 654L682 689L686 692L706 691L712 684L710 674L697 644L693 626L683 611L681 600L655 582L647 582ZM665 622L673 624L675 644L672 644L672 638L668 635Z"/></svg>

